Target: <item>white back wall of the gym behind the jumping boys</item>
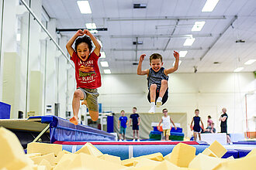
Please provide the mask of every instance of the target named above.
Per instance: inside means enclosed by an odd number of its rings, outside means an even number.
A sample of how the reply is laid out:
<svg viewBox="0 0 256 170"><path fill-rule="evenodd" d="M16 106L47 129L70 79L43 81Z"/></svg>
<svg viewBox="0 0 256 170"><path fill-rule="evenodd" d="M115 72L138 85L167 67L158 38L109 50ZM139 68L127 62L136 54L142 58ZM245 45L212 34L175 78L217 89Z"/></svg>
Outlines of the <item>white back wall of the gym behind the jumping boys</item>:
<svg viewBox="0 0 256 170"><path fill-rule="evenodd" d="M199 108L203 123L206 125L207 116L211 115L217 131L220 131L218 118L222 107L227 107L228 133L246 131L244 93L256 90L253 73L173 73L168 87L168 101L163 107L157 108L157 112L161 112L164 107L169 112L185 112L190 123L194 110ZM146 76L102 75L99 93L103 111L119 113L125 110L130 113L132 107L137 107L139 113L149 110ZM187 135L191 134L188 132Z"/></svg>

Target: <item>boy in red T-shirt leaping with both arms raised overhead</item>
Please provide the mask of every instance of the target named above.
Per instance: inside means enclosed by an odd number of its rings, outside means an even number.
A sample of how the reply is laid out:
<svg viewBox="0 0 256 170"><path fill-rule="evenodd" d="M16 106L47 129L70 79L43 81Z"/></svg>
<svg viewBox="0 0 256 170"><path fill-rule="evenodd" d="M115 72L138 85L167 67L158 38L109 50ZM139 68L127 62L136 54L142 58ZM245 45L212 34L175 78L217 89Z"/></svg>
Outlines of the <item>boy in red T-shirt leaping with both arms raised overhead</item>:
<svg viewBox="0 0 256 170"><path fill-rule="evenodd" d="M95 49L93 51L92 42L95 45ZM74 49L72 48L73 43ZM78 124L80 100L84 100L82 104L86 104L88 106L92 121L97 121L99 117L99 93L97 88L102 85L98 66L101 46L97 39L92 36L91 32L87 29L84 29L84 31L79 29L78 32L69 39L66 48L67 52L71 55L71 60L74 62L75 80L77 82L77 90L74 91L72 100L74 117L69 121L75 125Z"/></svg>

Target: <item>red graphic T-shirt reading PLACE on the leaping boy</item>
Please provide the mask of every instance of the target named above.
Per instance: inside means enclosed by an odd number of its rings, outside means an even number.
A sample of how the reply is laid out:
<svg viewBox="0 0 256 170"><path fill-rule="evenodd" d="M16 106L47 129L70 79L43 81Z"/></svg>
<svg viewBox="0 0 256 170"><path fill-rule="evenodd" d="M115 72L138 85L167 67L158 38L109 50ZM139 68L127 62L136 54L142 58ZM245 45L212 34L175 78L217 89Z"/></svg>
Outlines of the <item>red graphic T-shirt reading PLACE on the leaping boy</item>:
<svg viewBox="0 0 256 170"><path fill-rule="evenodd" d="M97 56L93 51L86 61L82 61L76 52L73 53L71 60L74 62L77 88L96 89L102 86L98 66L99 57L100 53Z"/></svg>

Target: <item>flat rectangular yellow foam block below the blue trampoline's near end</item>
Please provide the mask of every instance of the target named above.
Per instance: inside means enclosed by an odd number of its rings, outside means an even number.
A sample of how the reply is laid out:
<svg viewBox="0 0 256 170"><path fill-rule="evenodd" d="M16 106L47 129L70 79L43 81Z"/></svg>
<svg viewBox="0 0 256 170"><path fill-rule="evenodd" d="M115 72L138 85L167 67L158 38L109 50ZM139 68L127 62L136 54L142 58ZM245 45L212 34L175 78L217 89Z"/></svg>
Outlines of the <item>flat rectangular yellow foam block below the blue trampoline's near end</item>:
<svg viewBox="0 0 256 170"><path fill-rule="evenodd" d="M54 155L57 155L59 151L62 151L62 145L31 142L27 147L28 154L41 153L42 155L47 155L54 153Z"/></svg>

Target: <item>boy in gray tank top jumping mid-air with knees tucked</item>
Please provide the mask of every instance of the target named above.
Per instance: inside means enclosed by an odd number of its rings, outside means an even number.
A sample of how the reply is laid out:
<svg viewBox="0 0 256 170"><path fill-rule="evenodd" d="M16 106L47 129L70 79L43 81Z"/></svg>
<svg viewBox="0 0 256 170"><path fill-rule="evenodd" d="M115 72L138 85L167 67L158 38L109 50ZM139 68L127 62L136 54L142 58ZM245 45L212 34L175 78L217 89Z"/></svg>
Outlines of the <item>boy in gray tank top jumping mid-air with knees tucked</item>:
<svg viewBox="0 0 256 170"><path fill-rule="evenodd" d="M150 110L148 113L155 113L155 107L160 107L168 99L168 74L178 70L179 54L174 51L175 66L170 69L164 69L162 56L154 53L150 56L150 69L141 70L142 62L146 54L140 56L139 65L137 68L138 75L147 75L148 95L147 99L150 102Z"/></svg>

